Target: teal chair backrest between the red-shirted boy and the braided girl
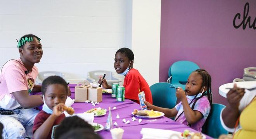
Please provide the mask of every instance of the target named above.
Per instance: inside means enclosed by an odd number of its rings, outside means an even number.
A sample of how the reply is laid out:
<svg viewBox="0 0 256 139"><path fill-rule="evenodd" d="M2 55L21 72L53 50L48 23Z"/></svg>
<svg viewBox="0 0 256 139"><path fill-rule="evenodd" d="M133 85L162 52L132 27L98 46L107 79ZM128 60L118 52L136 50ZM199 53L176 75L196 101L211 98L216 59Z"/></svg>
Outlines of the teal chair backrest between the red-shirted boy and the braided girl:
<svg viewBox="0 0 256 139"><path fill-rule="evenodd" d="M176 104L176 90L175 88L170 88L173 86L170 83L155 83L150 86L150 90L153 98L153 105L164 107L164 108L173 108Z"/></svg>

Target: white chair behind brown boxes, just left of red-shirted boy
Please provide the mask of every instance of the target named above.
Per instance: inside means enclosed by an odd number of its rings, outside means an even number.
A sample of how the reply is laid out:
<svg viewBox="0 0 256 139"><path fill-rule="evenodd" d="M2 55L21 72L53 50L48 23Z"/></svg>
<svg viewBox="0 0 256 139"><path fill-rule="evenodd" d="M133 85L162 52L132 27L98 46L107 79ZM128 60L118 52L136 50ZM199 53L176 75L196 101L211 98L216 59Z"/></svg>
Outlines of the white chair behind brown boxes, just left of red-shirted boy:
<svg viewBox="0 0 256 139"><path fill-rule="evenodd" d="M103 71L103 70L88 72L86 80L90 81L91 83L92 82L98 83L100 77L103 77L104 74L106 74L105 79L107 80L107 84L109 84L110 86L112 86L113 83L121 82L121 80L119 80L118 78L114 78L114 76L112 76L111 71Z"/></svg>

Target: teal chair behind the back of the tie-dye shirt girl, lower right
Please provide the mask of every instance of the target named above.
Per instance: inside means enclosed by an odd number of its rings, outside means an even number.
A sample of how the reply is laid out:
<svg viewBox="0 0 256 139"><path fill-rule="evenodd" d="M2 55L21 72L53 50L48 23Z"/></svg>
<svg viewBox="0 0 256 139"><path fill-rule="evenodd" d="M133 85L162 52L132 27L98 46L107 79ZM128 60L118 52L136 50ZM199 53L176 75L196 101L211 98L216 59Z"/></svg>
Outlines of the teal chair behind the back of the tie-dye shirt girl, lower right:
<svg viewBox="0 0 256 139"><path fill-rule="evenodd" d="M211 108L211 114L208 116L204 126L202 127L202 133L218 138L221 134L228 134L220 122L220 113L226 106L222 104L213 104Z"/></svg>

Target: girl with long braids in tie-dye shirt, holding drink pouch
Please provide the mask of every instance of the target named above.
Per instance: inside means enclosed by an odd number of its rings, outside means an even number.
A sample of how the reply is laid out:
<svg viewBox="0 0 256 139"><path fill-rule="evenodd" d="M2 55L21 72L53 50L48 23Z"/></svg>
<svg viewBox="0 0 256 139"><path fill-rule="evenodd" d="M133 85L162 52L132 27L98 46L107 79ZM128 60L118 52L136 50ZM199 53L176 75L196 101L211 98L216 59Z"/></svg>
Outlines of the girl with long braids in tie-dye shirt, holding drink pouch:
<svg viewBox="0 0 256 139"><path fill-rule="evenodd" d="M163 112L166 117L192 129L202 131L212 105L211 76L206 70L193 71L187 80L185 91L178 87L176 97L181 100L174 108L162 108L145 102L148 109Z"/></svg>

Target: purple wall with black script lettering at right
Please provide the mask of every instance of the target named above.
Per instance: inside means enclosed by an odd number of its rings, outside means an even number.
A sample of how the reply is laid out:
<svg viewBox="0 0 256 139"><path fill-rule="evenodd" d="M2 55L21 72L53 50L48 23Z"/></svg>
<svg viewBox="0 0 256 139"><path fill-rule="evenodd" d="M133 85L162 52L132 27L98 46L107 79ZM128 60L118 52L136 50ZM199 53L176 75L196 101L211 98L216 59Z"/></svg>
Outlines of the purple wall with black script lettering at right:
<svg viewBox="0 0 256 139"><path fill-rule="evenodd" d="M251 24L256 0L249 0ZM242 21L242 0L162 0L159 81L166 81L175 61L194 61L212 77L213 102L227 104L218 93L220 85L242 78L243 69L256 67L256 30L235 29Z"/></svg>

